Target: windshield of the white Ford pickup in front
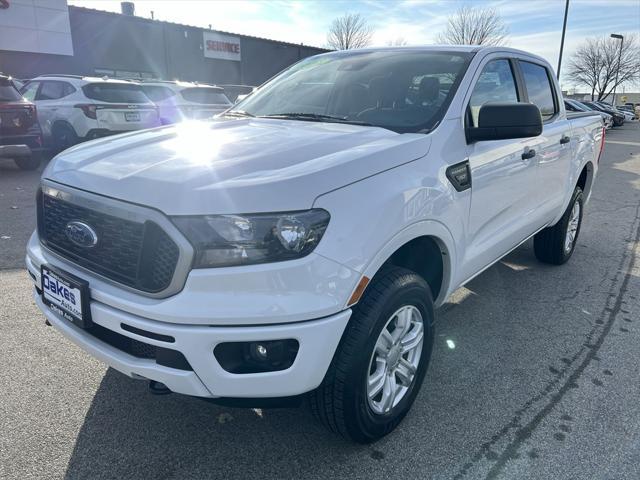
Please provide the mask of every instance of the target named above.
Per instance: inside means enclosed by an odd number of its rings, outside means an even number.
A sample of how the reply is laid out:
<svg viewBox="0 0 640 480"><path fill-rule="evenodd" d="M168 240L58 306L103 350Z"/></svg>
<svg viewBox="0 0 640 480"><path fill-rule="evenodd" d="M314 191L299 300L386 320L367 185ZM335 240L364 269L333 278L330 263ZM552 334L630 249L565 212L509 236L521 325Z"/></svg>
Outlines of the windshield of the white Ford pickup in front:
<svg viewBox="0 0 640 480"><path fill-rule="evenodd" d="M469 53L412 50L311 57L230 113L428 131L444 116L470 58Z"/></svg>

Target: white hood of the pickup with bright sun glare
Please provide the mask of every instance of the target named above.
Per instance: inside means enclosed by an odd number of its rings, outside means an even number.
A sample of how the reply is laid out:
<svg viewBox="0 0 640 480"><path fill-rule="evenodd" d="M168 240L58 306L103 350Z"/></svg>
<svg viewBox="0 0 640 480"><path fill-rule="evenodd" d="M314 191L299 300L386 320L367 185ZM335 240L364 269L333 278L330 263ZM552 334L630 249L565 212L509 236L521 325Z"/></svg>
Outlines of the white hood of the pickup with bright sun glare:
<svg viewBox="0 0 640 480"><path fill-rule="evenodd" d="M78 145L43 178L168 215L303 210L424 156L429 136L277 119L184 122Z"/></svg>

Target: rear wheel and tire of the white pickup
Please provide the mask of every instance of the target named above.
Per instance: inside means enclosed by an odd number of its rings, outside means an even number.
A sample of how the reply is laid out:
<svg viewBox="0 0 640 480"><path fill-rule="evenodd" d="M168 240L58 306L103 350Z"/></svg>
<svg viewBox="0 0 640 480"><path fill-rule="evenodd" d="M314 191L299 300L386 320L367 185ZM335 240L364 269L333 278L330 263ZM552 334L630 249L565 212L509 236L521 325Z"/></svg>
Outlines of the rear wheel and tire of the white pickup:
<svg viewBox="0 0 640 480"><path fill-rule="evenodd" d="M576 208L578 209L577 217L574 210ZM569 206L560 221L552 227L545 228L534 237L533 251L538 260L552 265L562 265L571 258L580 234L583 212L582 189L576 187L571 196ZM573 229L573 234L571 234L573 239L570 244L568 240L570 235L569 228Z"/></svg>

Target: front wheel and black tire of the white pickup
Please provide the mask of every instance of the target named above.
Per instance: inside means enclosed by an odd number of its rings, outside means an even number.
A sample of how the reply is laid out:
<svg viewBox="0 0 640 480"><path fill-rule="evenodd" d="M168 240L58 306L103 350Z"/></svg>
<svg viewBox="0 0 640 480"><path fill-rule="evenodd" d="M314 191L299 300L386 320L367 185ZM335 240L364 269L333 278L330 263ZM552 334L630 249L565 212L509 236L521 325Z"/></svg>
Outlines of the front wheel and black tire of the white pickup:
<svg viewBox="0 0 640 480"><path fill-rule="evenodd" d="M396 330L390 329L399 324L400 318L394 316L399 312L404 318L412 319L411 326L405 331L405 337L401 337L402 332L398 330L398 336L405 342L398 343L391 350L385 347L388 354L383 360L376 344L378 341L384 343L381 340L383 328L388 334L385 338L396 336ZM370 443L390 433L402 421L420 391L433 347L433 318L431 290L422 277L398 267L389 267L378 273L353 308L322 384L309 395L314 416L332 432L358 443ZM416 340L420 323L423 333L421 344ZM402 343L407 348L412 344L413 349L402 353L399 350ZM403 381L400 372L408 372L406 363L411 362L415 368L413 378L408 381L408 377L404 377ZM387 375L389 369L384 368L383 363L394 373ZM372 368L374 366L375 369ZM370 399L369 393L377 388L368 390L369 379L380 378L379 372L384 372L382 380L373 383L381 390ZM396 397L391 407L385 407L384 399L387 397L384 397L384 392L391 391L392 377L403 393ZM383 386L380 386L381 382Z"/></svg>

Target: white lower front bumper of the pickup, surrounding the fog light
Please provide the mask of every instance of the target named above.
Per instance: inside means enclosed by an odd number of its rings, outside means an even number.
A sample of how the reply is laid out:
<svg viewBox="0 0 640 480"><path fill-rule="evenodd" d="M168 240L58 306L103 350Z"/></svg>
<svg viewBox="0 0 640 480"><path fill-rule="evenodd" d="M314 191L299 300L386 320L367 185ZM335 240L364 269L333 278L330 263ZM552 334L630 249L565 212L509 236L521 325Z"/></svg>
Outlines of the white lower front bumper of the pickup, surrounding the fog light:
<svg viewBox="0 0 640 480"><path fill-rule="evenodd" d="M94 323L149 345L169 345L188 360L193 368L193 371L188 371L129 355L58 316L42 303L35 289L34 299L49 323L93 357L129 377L162 382L173 392L197 397L272 398L313 390L322 382L351 316L351 310L346 310L320 320L285 325L234 328L185 326L146 320L91 302ZM175 343L167 344L137 335L124 330L123 324L145 332L171 336L175 338ZM222 342L282 338L295 338L300 343L296 360L286 370L232 374L220 366L213 354L215 346Z"/></svg>

